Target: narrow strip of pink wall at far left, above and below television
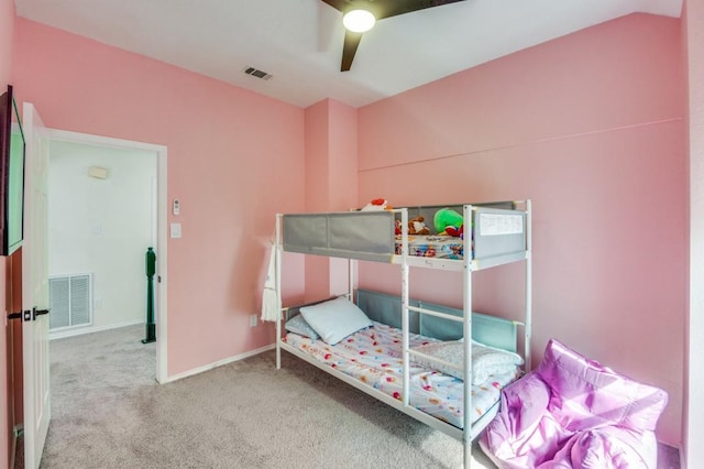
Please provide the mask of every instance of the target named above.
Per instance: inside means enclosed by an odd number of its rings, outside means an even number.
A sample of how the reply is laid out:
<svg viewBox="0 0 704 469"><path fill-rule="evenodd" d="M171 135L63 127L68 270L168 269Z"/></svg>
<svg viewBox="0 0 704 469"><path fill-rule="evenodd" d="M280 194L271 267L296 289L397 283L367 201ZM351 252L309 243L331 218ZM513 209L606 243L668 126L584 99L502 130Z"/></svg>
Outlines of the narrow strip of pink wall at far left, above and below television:
<svg viewBox="0 0 704 469"><path fill-rule="evenodd" d="M14 45L14 1L0 0L0 92L3 92L6 86L11 84L12 80L12 48ZM3 295L4 301L0 313L3 317L7 317L9 298L10 298L10 270L9 261L7 258L0 258L0 294ZM10 400L12 391L10 390L11 382L8 379L8 337L10 330L9 327L3 327L3 332L0 334L0 461L10 460L10 447L11 441L11 427L13 422L10 418L12 412L12 401ZM7 443L6 443L7 441ZM9 463L9 462L8 462Z"/></svg>

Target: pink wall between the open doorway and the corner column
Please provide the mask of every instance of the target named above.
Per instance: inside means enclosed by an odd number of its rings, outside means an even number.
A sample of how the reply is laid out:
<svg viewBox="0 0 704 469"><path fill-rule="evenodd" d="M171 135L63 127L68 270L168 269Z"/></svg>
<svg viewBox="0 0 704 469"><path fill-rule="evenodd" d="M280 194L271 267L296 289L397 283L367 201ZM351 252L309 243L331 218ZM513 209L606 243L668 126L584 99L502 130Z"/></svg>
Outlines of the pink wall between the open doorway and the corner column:
<svg viewBox="0 0 704 469"><path fill-rule="evenodd" d="M261 305L276 211L304 208L304 110L18 19L14 77L50 128L168 148L168 374L267 346ZM284 196L285 195L285 196Z"/></svg>

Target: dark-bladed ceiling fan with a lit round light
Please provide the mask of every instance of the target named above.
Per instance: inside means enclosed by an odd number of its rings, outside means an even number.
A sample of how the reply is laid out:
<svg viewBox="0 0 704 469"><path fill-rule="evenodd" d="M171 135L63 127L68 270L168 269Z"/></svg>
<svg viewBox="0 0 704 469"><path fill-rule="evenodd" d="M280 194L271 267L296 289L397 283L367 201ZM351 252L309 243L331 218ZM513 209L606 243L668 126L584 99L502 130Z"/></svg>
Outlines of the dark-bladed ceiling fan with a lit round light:
<svg viewBox="0 0 704 469"><path fill-rule="evenodd" d="M377 20L397 17L431 7L441 7L464 0L322 0L342 12L344 23L344 46L340 72L352 67L352 59L362 41L362 34L374 26ZM359 21L360 23L355 23Z"/></svg>

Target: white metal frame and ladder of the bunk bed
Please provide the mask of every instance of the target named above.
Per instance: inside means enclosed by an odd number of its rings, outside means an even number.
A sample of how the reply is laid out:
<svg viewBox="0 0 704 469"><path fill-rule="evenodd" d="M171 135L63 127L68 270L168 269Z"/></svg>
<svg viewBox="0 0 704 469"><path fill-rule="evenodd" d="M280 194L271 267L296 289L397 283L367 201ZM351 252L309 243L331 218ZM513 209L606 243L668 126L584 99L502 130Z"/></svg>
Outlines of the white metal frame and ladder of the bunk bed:
<svg viewBox="0 0 704 469"><path fill-rule="evenodd" d="M458 428L451 424L442 422L422 411L419 411L409 404L409 361L414 355L422 356L439 363L453 367L451 363L444 362L437 358L425 356L420 352L414 351L409 347L409 313L417 312L421 315L430 315L442 319L452 321L461 321L463 324L463 337L472 337L472 273L483 269L490 269L513 262L525 262L525 279L526 279L526 292L525 292L525 317L524 321L514 321L517 325L524 327L524 359L525 371L530 371L531 352L530 352L530 339L531 339L531 318L532 318L532 260L531 260L531 201L519 200L512 201L513 207L522 206L522 210L506 210L487 207L486 205L463 205L463 217L466 222L472 223L473 236L464 237L464 252L463 259L460 260L443 260L433 258L417 258L408 254L408 209L399 208L394 210L384 210L383 212L330 212L330 214L298 214L298 215L283 215L276 216L276 285L280 303L280 262L282 252L300 252L312 253L328 257L341 257L349 260L349 287L346 296L352 301L354 292L355 280L355 266L358 260L370 261L385 261L396 264L400 264L402 270L402 329L403 329L403 367L404 367L404 383L403 383L403 400L398 400L382 393L360 381L348 377L346 374L328 367L324 363L307 356L305 352L289 346L283 341L282 337L282 321L285 320L288 315L296 310L297 307L282 308L284 316L280 320L276 321L276 369L280 369L280 350L284 349L298 358L320 368L321 370L334 375L336 378L358 388L359 390L381 400L382 402L397 408L398 411L429 425L432 428L439 429L447 435L450 435L463 443L463 458L464 467L470 468L472 465L472 441L480 436L482 430L490 424L498 412L498 402L484 415L482 415L473 425L471 424L472 408L472 393L471 393L471 380L464 380L463 392L463 428ZM491 205L491 204L490 204ZM373 232L374 229L387 230L385 232L391 233L391 250L388 248L378 249L378 246L374 246L370 252L356 252L354 250L348 250L343 243L339 243L338 240L331 240L334 238L336 231L336 218L349 217L350 214L363 217L356 226L364 227L364 232L352 233L352 236L364 234ZM359 215L358 215L359 214ZM388 215L392 214L392 215ZM395 236L393 234L394 218L398 214L402 221L402 253L395 254ZM302 231L297 231L299 227L294 225L286 225L285 217L326 217L324 223L326 230L321 229L321 225L312 222L312 226L304 228ZM516 218L519 217L519 218ZM388 221L391 220L391 222ZM471 220L471 221L470 221ZM294 231L294 234L284 239L284 232L286 230ZM339 227L338 227L339 230ZM284 232L283 232L284 231ZM330 236L330 232L333 234ZM384 232L384 231L383 231ZM324 233L324 234L323 234ZM338 232L338 234L340 234ZM322 236L322 237L321 237ZM310 238L321 237L316 242L310 243ZM496 239L502 237L508 238L508 243L501 241L495 242ZM384 244L383 240L378 244ZM311 247L311 244L315 244ZM521 249L516 250L515 247L520 244ZM393 253L389 255L389 252ZM479 255L477 255L479 254ZM428 309L425 307L413 306L409 295L409 271L411 266L431 268L441 270L453 270L463 272L463 315L452 316L442 312ZM464 340L464 377L471 377L471 353L472 353L472 340ZM468 359L469 358L469 359Z"/></svg>

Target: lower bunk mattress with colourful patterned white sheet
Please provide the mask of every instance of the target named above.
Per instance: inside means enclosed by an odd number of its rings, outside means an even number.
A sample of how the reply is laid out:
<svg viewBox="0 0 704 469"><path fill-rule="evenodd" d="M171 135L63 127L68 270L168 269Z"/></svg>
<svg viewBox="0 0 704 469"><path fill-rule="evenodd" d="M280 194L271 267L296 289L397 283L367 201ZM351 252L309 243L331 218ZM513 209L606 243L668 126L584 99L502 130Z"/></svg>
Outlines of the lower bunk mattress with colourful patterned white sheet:
<svg viewBox="0 0 704 469"><path fill-rule="evenodd" d="M411 334L409 346L436 339ZM323 363L376 390L403 400L402 331L381 323L360 330L341 342L330 346L321 340L289 332L284 339ZM409 404L443 422L463 427L462 395L464 383L457 378L410 363ZM502 389L520 375L520 369L491 375L483 383L472 384L472 415L474 423L501 397Z"/></svg>

